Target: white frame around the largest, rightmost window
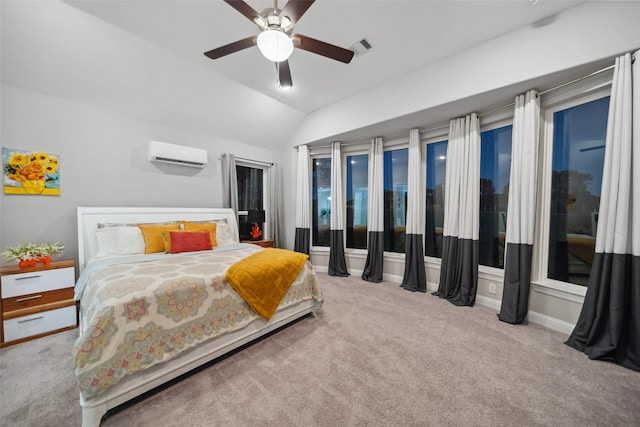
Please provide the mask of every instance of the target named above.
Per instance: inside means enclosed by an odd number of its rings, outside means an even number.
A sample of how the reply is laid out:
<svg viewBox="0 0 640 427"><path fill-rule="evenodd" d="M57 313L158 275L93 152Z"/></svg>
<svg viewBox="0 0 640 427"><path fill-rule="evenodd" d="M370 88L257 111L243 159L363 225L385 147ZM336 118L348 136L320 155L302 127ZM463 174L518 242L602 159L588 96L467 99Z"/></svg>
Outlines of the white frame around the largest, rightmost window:
<svg viewBox="0 0 640 427"><path fill-rule="evenodd" d="M532 285L577 296L582 303L588 286L562 282L548 277L549 232L551 217L551 180L553 171L554 114L582 104L611 96L613 71L602 73L577 83L575 87L560 89L541 100L541 129L539 146L539 179L537 191L536 233L532 262ZM545 292L545 291L541 291ZM555 293L554 293L555 295ZM569 297L571 299L571 297ZM571 299L573 301L573 299Z"/></svg>

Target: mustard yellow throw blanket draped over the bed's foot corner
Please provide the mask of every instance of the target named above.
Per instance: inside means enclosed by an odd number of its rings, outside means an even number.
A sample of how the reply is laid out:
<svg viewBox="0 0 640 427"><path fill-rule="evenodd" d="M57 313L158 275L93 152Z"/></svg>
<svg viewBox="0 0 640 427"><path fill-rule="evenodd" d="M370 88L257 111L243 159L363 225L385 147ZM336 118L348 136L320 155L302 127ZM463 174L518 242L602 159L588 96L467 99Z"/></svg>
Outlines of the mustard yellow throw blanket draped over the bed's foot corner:
<svg viewBox="0 0 640 427"><path fill-rule="evenodd" d="M249 307L269 320L307 258L299 252L266 248L229 267L225 279Z"/></svg>

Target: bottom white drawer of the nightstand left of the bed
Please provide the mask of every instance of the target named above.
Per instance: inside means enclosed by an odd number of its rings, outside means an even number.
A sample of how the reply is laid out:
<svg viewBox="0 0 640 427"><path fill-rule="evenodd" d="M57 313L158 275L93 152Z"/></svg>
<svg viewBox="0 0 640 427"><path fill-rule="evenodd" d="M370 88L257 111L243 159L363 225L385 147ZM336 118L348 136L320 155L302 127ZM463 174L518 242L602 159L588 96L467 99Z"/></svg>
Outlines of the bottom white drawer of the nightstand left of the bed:
<svg viewBox="0 0 640 427"><path fill-rule="evenodd" d="M57 310L16 317L4 321L4 340L13 341L43 332L54 331L76 325L76 307L69 306Z"/></svg>

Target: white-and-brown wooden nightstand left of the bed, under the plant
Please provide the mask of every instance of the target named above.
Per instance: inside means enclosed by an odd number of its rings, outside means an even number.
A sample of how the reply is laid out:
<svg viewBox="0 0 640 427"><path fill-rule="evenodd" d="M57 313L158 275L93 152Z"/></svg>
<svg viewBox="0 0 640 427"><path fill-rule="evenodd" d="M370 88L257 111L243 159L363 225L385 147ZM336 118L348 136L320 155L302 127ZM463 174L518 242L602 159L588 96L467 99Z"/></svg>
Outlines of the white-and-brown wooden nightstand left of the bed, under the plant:
<svg viewBox="0 0 640 427"><path fill-rule="evenodd" d="M0 347L77 327L74 286L73 260L0 268Z"/></svg>

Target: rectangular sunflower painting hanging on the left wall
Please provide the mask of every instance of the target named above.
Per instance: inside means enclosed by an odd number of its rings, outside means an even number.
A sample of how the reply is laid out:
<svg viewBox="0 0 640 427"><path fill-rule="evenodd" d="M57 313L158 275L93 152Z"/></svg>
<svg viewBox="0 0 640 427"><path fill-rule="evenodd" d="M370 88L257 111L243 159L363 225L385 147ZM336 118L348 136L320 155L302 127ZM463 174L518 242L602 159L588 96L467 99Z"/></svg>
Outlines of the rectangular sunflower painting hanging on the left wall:
<svg viewBox="0 0 640 427"><path fill-rule="evenodd" d="M59 156L44 151L2 149L5 194L60 195Z"/></svg>

